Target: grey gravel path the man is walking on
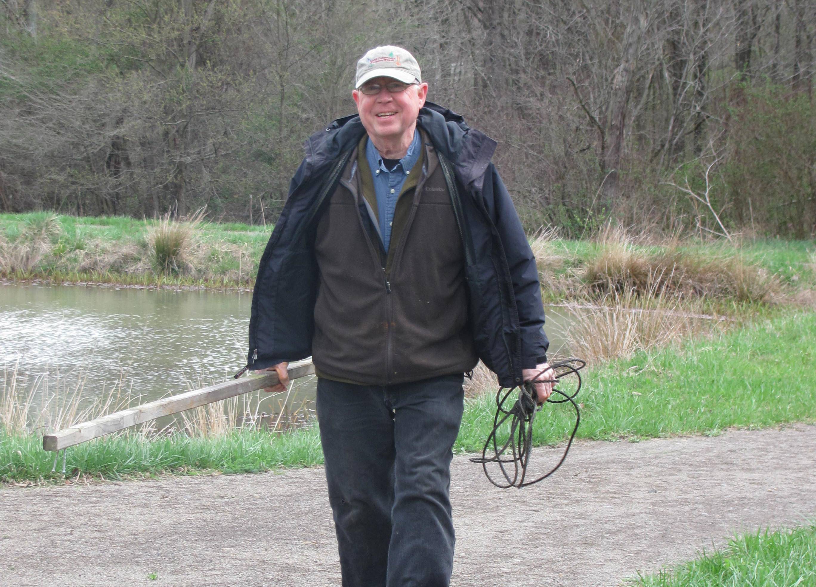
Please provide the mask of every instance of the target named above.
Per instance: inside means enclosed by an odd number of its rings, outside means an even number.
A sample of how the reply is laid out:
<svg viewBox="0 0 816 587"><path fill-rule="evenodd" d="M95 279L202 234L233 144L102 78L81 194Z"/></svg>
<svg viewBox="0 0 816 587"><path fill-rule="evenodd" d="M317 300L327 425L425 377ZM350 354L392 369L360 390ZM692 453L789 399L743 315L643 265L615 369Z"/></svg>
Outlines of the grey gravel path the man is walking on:
<svg viewBox="0 0 816 587"><path fill-rule="evenodd" d="M814 461L816 426L583 442L521 490L456 457L452 585L618 585L801 523ZM335 548L321 468L0 490L0 585L339 585Z"/></svg>

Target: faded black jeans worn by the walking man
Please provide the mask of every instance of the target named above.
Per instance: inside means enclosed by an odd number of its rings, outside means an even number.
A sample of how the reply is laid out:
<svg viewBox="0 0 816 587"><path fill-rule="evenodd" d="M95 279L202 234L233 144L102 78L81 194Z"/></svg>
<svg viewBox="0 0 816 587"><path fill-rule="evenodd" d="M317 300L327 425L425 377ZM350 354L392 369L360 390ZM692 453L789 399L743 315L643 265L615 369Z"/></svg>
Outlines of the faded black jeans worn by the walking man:
<svg viewBox="0 0 816 587"><path fill-rule="evenodd" d="M317 380L344 587L450 585L450 461L462 379L386 387Z"/></svg>

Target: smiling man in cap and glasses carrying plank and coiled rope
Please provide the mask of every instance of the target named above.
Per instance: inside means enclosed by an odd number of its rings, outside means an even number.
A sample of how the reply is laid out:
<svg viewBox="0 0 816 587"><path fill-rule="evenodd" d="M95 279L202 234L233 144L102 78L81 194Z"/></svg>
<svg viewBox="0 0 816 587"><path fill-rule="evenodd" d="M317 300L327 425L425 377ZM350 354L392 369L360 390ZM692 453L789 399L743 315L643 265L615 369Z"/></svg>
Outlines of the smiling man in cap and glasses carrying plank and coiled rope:
<svg viewBox="0 0 816 587"><path fill-rule="evenodd" d="M548 369L538 271L496 143L426 103L413 55L368 51L354 88L357 115L306 142L261 258L248 367L280 391L313 357L343 585L449 585L463 374Z"/></svg>

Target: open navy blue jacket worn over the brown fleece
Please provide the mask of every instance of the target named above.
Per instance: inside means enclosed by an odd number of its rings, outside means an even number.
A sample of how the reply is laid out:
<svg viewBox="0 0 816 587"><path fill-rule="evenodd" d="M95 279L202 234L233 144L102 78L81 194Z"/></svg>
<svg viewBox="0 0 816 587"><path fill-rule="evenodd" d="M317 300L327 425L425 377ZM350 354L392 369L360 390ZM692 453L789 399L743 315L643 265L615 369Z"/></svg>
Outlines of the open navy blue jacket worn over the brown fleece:
<svg viewBox="0 0 816 587"><path fill-rule="evenodd" d="M465 251L473 342L502 386L547 360L535 258L507 188L490 162L496 143L463 117L427 102L417 124L442 169ZM357 115L339 118L305 143L306 157L260 260L250 320L249 369L312 355L319 277L316 218L366 132Z"/></svg>

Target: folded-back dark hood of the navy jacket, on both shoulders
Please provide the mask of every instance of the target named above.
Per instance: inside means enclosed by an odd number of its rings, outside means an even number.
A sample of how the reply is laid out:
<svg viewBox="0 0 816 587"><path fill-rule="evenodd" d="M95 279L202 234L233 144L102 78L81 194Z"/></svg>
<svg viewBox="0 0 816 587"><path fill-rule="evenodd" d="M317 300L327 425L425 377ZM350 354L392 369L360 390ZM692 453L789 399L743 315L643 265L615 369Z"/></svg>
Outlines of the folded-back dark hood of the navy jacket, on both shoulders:
<svg viewBox="0 0 816 587"><path fill-rule="evenodd" d="M419 127L428 133L433 146L453 164L464 185L480 178L490 164L496 142L479 130L472 129L464 118L448 108L425 102L417 117ZM332 121L326 130L306 140L306 159L319 167L334 161L341 152L353 148L366 129L357 114Z"/></svg>

